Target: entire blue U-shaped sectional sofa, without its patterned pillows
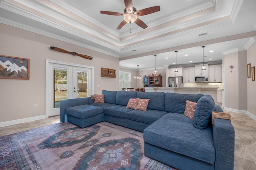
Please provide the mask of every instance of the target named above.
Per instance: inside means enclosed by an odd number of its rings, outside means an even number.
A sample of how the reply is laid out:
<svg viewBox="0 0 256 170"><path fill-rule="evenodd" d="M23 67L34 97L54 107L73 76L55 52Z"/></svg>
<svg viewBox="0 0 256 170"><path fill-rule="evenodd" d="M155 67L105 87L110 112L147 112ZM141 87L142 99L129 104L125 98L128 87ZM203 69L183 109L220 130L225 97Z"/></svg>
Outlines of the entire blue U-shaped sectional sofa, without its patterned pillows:
<svg viewBox="0 0 256 170"><path fill-rule="evenodd" d="M106 91L104 103L90 97L60 100L60 121L86 127L108 121L143 132L144 154L180 170L233 170L234 127L210 95ZM146 111L126 108L130 98L150 99ZM197 102L194 118L183 113Z"/></svg>

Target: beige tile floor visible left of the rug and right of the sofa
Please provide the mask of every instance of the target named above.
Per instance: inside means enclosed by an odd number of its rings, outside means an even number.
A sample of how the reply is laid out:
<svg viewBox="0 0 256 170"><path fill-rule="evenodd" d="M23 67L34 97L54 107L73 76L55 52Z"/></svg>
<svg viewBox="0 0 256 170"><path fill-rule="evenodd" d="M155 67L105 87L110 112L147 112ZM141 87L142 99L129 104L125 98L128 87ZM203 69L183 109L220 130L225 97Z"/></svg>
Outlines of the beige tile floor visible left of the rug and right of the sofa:
<svg viewBox="0 0 256 170"><path fill-rule="evenodd" d="M231 123L235 128L234 170L256 170L256 121L243 113L231 114ZM37 127L60 122L60 116L1 127L0 136L10 135Z"/></svg>

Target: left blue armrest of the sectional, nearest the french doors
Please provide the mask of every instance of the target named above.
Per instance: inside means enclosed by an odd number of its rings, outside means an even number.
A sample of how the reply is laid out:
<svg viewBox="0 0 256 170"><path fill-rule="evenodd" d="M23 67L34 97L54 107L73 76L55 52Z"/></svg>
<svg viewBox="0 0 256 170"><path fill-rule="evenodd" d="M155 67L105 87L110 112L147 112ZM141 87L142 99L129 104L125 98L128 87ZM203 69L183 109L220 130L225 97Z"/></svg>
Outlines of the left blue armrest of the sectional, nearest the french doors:
<svg viewBox="0 0 256 170"><path fill-rule="evenodd" d="M72 99L63 99L60 100L60 121L68 121L66 118L66 108L73 106L80 106L84 104L92 104L94 100L91 100L91 97L84 98L72 98Z"/></svg>

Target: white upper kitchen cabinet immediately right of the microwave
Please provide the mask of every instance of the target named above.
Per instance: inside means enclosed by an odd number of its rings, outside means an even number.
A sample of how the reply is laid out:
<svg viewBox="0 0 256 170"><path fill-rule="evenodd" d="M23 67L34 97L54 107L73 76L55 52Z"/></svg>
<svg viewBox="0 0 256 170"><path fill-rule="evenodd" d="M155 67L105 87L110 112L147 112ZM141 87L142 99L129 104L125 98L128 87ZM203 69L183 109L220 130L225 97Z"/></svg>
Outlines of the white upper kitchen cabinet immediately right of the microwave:
<svg viewBox="0 0 256 170"><path fill-rule="evenodd" d="M211 65L208 66L208 82L209 83L221 83L222 82L222 66Z"/></svg>

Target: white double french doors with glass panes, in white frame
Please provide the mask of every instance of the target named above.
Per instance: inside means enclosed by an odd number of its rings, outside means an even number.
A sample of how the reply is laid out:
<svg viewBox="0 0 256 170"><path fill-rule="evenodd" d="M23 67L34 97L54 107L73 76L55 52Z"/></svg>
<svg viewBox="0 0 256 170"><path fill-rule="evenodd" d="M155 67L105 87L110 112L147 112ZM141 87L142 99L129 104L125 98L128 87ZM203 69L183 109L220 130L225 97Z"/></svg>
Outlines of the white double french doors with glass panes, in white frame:
<svg viewBox="0 0 256 170"><path fill-rule="evenodd" d="M46 116L60 114L60 100L93 94L93 67L46 60Z"/></svg>

